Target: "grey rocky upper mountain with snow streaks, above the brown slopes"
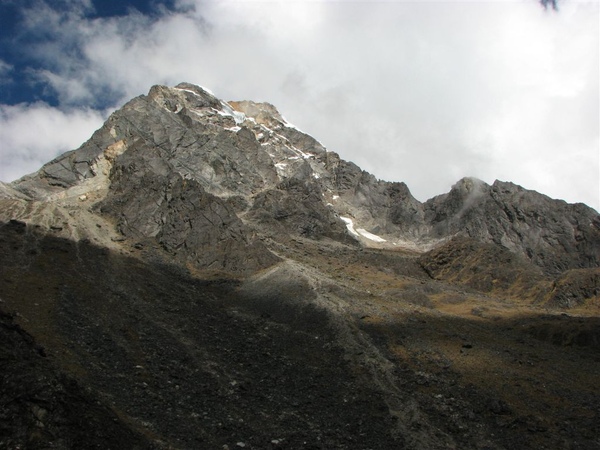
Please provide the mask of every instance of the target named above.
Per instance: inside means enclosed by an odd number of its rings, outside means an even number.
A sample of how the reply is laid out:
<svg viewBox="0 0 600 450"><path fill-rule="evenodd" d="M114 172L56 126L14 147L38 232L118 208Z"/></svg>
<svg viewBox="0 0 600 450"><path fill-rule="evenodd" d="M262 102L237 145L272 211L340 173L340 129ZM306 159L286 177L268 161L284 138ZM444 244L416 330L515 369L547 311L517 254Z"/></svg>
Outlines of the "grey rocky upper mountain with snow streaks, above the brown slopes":
<svg viewBox="0 0 600 450"><path fill-rule="evenodd" d="M377 180L327 151L275 106L225 102L189 83L153 86L79 149L11 189L46 200L97 198L121 233L154 238L166 232L169 208L175 206L160 205L174 201L177 180L212 196L210 202L231 220L242 221L240 230L248 228L244 235L331 238L417 252L464 235L504 246L554 272L600 261L600 237L589 227L597 216L591 208L473 177L421 203L405 184ZM554 244L557 234L561 248Z"/></svg>

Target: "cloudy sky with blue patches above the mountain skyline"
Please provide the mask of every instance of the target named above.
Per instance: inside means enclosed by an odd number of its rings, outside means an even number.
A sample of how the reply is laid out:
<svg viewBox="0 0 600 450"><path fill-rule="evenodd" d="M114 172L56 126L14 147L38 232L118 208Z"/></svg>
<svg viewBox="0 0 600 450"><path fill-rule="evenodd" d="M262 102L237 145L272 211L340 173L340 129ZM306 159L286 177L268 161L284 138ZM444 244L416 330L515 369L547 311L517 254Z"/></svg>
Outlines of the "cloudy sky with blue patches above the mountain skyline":
<svg viewBox="0 0 600 450"><path fill-rule="evenodd" d="M600 209L599 5L0 1L0 180L153 84L268 101L419 200L464 176Z"/></svg>

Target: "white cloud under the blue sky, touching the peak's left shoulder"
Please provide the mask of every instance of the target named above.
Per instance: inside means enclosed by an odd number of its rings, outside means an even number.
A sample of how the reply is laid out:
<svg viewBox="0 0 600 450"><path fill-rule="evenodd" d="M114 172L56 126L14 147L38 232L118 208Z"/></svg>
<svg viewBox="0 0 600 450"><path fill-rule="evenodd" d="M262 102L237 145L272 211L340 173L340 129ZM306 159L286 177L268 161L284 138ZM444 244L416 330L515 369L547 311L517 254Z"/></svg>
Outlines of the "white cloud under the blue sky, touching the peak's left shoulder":
<svg viewBox="0 0 600 450"><path fill-rule="evenodd" d="M35 172L79 147L104 120L105 114L91 109L61 111L45 103L0 105L0 180Z"/></svg>

